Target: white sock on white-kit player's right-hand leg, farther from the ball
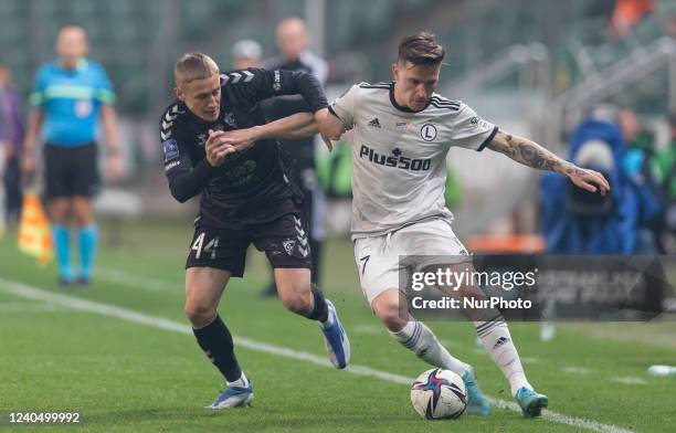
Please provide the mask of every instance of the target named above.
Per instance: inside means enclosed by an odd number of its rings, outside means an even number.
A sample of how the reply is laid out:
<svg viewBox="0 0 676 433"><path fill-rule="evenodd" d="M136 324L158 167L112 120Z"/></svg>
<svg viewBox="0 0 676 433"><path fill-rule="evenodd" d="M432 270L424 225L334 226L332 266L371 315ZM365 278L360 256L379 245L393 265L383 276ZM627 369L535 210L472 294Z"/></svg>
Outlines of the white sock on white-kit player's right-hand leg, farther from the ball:
<svg viewBox="0 0 676 433"><path fill-rule="evenodd" d="M503 316L498 315L488 321L475 321L474 326L476 327L476 335L484 344L484 349L509 381L511 395L516 395L519 388L526 387L532 390L526 379L519 353L514 346Z"/></svg>

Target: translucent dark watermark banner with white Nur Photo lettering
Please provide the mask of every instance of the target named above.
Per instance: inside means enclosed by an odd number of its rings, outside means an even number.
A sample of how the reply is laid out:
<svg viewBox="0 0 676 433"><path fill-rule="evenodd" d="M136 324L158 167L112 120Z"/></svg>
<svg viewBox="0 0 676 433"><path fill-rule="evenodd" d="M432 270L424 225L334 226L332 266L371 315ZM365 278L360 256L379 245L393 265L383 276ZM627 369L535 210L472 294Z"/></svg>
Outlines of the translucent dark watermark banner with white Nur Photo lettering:
<svg viewBox="0 0 676 433"><path fill-rule="evenodd" d="M400 313L439 320L496 314L513 320L540 320L543 314L649 320L673 295L666 275L675 273L672 256L400 256L406 300Z"/></svg>

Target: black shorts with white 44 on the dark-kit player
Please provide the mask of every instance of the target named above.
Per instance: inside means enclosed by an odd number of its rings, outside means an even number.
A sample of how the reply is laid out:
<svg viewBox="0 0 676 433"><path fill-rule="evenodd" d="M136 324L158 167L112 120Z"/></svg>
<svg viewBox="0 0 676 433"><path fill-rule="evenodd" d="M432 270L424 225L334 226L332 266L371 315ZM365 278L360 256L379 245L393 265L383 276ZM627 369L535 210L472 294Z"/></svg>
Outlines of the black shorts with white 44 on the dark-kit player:
<svg viewBox="0 0 676 433"><path fill-rule="evenodd" d="M254 244L264 251L273 268L311 268L306 207L295 213L261 224L245 224L242 230L215 229L198 223L190 243L186 268L215 267L244 275L246 249Z"/></svg>

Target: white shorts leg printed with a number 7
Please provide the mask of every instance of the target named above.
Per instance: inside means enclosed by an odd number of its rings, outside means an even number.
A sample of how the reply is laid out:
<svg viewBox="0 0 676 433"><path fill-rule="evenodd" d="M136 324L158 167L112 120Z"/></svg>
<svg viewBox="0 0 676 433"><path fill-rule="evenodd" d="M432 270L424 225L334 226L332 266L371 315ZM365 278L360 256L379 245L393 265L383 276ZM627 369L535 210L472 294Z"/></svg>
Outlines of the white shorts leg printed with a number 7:
<svg viewBox="0 0 676 433"><path fill-rule="evenodd" d="M355 241L355 261L359 284L369 305L384 291L400 288L399 255L388 244L387 235Z"/></svg>

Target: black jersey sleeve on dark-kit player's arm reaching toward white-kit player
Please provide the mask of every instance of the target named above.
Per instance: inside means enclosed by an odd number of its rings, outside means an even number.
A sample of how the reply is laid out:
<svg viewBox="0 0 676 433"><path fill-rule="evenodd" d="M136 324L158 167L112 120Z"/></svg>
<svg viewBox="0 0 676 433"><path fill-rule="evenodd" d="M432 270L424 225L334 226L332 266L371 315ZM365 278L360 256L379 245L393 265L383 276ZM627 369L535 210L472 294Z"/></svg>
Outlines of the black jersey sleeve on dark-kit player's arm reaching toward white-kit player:
<svg viewBox="0 0 676 433"><path fill-rule="evenodd" d="M302 71L250 67L222 74L221 85L239 86L254 102L273 96L300 95L313 113L328 106L317 78Z"/></svg>

